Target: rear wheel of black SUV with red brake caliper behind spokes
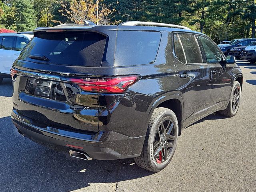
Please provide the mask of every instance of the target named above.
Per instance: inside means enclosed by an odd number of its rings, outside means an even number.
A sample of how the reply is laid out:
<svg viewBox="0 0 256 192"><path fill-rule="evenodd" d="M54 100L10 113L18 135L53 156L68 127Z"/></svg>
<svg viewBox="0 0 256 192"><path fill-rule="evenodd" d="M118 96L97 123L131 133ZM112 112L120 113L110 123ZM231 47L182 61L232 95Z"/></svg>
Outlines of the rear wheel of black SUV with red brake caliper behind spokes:
<svg viewBox="0 0 256 192"><path fill-rule="evenodd" d="M152 172L164 169L172 160L178 139L178 120L168 108L156 108L150 118L138 166ZM158 145L156 145L158 144Z"/></svg>

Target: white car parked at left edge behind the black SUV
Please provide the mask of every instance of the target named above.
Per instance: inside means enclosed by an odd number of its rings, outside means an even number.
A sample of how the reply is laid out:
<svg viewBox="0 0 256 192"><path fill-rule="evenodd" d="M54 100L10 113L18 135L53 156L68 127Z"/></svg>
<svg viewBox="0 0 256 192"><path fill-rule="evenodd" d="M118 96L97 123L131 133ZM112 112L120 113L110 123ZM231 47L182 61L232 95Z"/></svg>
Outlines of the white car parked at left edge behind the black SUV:
<svg viewBox="0 0 256 192"><path fill-rule="evenodd" d="M3 78L11 77L13 62L32 38L32 32L0 33L0 84Z"/></svg>

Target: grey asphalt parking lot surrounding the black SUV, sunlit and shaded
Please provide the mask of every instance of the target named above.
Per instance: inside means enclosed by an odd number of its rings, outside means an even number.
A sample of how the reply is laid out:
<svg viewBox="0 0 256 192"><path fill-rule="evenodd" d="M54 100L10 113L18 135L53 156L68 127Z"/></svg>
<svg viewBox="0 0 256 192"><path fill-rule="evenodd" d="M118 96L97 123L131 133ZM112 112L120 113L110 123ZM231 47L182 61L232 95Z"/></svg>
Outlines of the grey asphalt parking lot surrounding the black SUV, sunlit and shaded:
<svg viewBox="0 0 256 192"><path fill-rule="evenodd" d="M0 192L256 191L256 64L244 74L238 114L188 127L170 165L148 172L128 160L84 161L40 146L12 125L12 81L0 85ZM204 150L202 150L204 148Z"/></svg>

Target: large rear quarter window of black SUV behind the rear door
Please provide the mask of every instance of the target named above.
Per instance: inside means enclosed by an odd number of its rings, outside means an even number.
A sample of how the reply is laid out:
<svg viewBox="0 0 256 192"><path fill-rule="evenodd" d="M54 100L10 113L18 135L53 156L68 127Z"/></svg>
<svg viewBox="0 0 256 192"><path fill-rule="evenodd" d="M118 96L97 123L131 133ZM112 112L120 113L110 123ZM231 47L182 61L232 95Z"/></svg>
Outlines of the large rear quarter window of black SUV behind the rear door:
<svg viewBox="0 0 256 192"><path fill-rule="evenodd" d="M160 32L118 31L115 66L154 63L160 40Z"/></svg>

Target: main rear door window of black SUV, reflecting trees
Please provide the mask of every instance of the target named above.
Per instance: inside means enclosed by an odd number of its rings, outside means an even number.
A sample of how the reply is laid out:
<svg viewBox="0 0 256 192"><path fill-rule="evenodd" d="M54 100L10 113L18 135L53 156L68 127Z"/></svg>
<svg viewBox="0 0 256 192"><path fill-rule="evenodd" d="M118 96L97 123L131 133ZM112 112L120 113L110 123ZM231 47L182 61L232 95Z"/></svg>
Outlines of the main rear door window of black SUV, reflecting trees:
<svg viewBox="0 0 256 192"><path fill-rule="evenodd" d="M196 36L192 34L178 34L182 43L188 64L202 63L202 55Z"/></svg>

